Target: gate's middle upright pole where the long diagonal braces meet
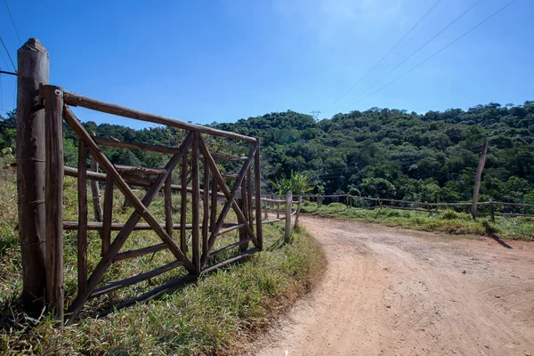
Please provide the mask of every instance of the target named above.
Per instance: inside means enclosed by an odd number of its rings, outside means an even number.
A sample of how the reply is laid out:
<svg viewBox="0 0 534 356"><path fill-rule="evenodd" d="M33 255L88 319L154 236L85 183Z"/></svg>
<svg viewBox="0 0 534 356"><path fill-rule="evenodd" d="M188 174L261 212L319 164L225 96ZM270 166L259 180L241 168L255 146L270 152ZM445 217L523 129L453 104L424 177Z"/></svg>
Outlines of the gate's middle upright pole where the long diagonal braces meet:
<svg viewBox="0 0 534 356"><path fill-rule="evenodd" d="M195 265L195 272L200 274L200 239L199 228L200 219L200 173L199 173L199 158L198 158L198 145L200 143L200 134L194 133L195 141L193 142L193 149L191 151L191 189L192 191L192 252L193 252L193 264Z"/></svg>

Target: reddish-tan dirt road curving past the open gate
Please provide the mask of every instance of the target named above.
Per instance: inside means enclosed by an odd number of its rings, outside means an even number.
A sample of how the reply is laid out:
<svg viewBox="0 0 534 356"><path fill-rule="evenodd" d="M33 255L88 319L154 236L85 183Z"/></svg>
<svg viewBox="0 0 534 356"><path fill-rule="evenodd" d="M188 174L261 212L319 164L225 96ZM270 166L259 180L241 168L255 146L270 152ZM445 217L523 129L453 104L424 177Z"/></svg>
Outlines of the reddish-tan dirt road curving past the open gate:
<svg viewBox="0 0 534 356"><path fill-rule="evenodd" d="M534 243L302 222L327 271L256 355L534 355Z"/></svg>

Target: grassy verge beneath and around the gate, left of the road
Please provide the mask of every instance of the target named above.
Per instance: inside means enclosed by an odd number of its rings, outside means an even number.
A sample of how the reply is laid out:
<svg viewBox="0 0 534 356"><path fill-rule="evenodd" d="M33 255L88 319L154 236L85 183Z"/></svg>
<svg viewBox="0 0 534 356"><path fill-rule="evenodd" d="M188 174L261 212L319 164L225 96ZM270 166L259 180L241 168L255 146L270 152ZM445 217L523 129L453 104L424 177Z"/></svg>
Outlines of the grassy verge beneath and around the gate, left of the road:
<svg viewBox="0 0 534 356"><path fill-rule="evenodd" d="M46 316L30 319L21 309L20 247L14 173L2 170L0 179L0 353L2 354L234 354L287 310L298 296L320 279L325 257L318 243L303 229L296 229L292 242L283 243L283 223L264 226L264 251L242 263L214 271L158 300L137 304L96 319L95 312L139 295L184 274L183 269L120 289L88 303L77 323L60 330ZM76 181L65 183L65 220L76 220ZM116 191L114 217L122 222L131 207L122 205ZM179 195L174 201L180 201ZM177 206L176 206L177 207ZM163 216L163 199L150 206ZM176 208L177 211L177 208ZM92 216L93 212L89 212ZM231 218L229 218L229 221ZM231 235L227 239L234 239ZM99 260L100 237L90 234L88 263ZM136 231L125 248L144 247L158 238ZM221 244L227 241L222 241ZM230 252L231 253L231 252ZM235 251L234 251L235 253ZM220 259L230 255L222 254ZM115 264L108 279L121 279L150 271L172 261L168 251ZM213 261L214 263L216 261ZM65 295L67 303L76 293L76 233L65 236Z"/></svg>

